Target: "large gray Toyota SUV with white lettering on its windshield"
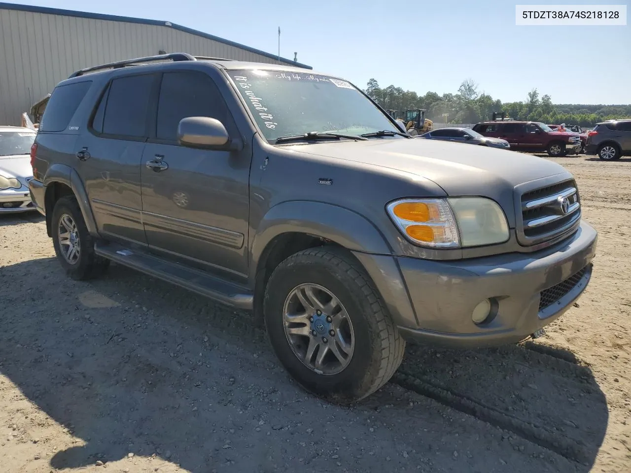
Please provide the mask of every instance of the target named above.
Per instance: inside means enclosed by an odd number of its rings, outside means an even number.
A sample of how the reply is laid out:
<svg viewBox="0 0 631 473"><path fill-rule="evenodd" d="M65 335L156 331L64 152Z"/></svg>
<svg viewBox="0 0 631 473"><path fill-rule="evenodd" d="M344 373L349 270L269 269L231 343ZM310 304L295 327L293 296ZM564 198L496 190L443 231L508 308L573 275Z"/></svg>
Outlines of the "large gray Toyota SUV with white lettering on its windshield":
<svg viewBox="0 0 631 473"><path fill-rule="evenodd" d="M31 158L70 277L114 261L249 310L334 402L386 383L406 340L540 334L592 274L596 231L562 166L415 139L298 67L179 53L77 71Z"/></svg>

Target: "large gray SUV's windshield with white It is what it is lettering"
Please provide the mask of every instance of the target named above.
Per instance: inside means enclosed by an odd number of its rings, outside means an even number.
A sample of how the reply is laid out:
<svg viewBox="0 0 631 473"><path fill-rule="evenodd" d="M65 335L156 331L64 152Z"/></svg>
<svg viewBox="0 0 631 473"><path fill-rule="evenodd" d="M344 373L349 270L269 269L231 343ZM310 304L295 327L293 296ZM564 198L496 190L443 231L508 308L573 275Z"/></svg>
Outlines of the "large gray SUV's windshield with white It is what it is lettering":
<svg viewBox="0 0 631 473"><path fill-rule="evenodd" d="M268 141L307 132L352 136L398 128L346 81L310 73L228 71ZM394 136L393 138L397 138Z"/></svg>

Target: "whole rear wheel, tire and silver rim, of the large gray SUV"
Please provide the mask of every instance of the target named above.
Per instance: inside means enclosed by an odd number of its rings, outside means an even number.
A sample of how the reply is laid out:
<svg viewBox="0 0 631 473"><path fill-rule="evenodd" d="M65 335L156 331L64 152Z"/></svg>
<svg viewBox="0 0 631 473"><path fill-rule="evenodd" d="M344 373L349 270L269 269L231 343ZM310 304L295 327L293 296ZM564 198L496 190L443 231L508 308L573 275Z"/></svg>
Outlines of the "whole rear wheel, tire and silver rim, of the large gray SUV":
<svg viewBox="0 0 631 473"><path fill-rule="evenodd" d="M101 276L109 260L94 253L94 240L85 226L79 204L73 196L61 197L52 211L52 244L57 260L73 279L83 281ZM70 231L74 228L73 231ZM66 238L64 233L69 233ZM67 242L67 243L66 243ZM78 250L71 254L70 247Z"/></svg>

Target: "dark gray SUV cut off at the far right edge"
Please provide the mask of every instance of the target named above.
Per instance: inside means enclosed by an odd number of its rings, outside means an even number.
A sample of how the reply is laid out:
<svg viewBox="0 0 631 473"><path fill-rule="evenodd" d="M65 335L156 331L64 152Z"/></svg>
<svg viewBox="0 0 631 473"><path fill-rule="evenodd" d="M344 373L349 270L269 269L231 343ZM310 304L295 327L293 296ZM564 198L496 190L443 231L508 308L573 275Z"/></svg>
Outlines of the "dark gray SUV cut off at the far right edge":
<svg viewBox="0 0 631 473"><path fill-rule="evenodd" d="M631 155L631 120L607 120L587 132L586 153L614 161Z"/></svg>

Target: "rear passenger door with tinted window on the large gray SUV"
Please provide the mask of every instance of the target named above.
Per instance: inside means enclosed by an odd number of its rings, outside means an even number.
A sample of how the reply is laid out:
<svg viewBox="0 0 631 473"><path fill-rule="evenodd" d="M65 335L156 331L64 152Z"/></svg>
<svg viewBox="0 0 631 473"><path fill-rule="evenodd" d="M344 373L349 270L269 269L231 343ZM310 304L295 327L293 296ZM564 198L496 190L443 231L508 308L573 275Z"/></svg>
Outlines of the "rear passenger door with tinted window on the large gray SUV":
<svg viewBox="0 0 631 473"><path fill-rule="evenodd" d="M88 131L75 143L77 170L98 230L115 240L146 244L140 169L148 137L151 90L159 74L112 79L104 88Z"/></svg>

